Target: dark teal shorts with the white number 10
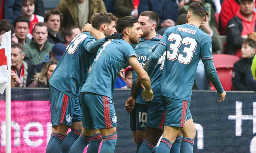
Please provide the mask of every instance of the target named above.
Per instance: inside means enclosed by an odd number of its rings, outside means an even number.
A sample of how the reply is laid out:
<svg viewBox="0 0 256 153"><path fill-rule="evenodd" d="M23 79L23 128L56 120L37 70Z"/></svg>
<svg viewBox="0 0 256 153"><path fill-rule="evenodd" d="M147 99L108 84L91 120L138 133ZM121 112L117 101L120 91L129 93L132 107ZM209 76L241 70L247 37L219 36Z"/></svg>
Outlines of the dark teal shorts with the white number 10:
<svg viewBox="0 0 256 153"><path fill-rule="evenodd" d="M136 103L130 113L130 128L131 131L140 130L146 131L148 120L148 108L146 104Z"/></svg>

